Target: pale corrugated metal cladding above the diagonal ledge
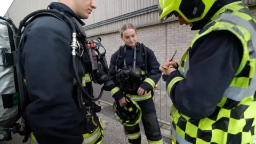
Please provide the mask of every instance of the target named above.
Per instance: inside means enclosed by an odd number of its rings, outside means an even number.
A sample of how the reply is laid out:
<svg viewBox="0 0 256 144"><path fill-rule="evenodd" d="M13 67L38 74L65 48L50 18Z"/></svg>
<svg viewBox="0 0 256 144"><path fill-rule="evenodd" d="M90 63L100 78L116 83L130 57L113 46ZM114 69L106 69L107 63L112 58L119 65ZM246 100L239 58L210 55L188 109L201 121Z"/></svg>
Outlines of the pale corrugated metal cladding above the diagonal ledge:
<svg viewBox="0 0 256 144"><path fill-rule="evenodd" d="M14 0L7 15L13 19L15 25L30 12L46 9L51 2L58 0ZM83 20L86 25L117 17L129 12L137 11L152 5L158 0L95 0L97 9L93 10L89 19Z"/></svg>

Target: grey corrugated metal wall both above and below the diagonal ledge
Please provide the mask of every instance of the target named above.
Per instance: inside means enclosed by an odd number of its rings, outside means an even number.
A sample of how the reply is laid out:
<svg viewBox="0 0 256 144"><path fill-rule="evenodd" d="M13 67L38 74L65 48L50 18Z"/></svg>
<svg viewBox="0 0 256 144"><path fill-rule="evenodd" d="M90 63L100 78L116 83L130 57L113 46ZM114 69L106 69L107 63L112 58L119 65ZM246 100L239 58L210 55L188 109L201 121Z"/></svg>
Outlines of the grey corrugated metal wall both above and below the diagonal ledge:
<svg viewBox="0 0 256 144"><path fill-rule="evenodd" d="M22 20L30 12L46 9L47 5L51 2L57 2L58 0L14 0L11 7L7 11L7 14L14 21L15 25L19 25ZM95 0L97 9L93 11L89 19L83 20L86 26L92 25L103 20L115 18L120 15L134 12L149 6L156 5L158 0ZM256 0L243 0L247 5L256 4ZM175 18L169 19L169 21L175 20ZM135 26L148 26L159 23L159 17L157 11L138 15L133 18L121 20L119 22L109 23L104 26L92 28L86 30L86 33L91 35L99 35L102 33L110 33L119 30L119 28L125 22L132 22Z"/></svg>

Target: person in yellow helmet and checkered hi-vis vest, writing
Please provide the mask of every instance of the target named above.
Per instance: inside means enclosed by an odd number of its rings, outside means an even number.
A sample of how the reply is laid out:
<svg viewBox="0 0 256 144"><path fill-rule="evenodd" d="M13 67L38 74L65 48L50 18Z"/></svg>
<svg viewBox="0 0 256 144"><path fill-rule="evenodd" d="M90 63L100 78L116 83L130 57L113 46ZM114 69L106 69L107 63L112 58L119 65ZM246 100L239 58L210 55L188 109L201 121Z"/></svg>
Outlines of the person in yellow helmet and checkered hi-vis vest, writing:
<svg viewBox="0 0 256 144"><path fill-rule="evenodd" d="M241 1L159 0L162 21L200 31L181 61L166 60L173 143L252 143L256 20Z"/></svg>

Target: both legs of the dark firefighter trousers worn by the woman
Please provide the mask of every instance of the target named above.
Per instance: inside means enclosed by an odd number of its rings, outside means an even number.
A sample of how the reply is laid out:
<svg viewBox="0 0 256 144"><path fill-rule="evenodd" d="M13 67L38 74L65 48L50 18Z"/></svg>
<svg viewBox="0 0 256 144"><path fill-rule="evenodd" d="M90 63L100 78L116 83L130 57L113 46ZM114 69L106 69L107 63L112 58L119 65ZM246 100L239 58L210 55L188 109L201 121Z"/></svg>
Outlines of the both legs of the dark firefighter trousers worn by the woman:
<svg viewBox="0 0 256 144"><path fill-rule="evenodd" d="M160 126L157 120L155 103L152 98L138 101L138 105L142 111L142 124L145 129L145 134L148 143L163 143ZM140 126L124 126L126 137L132 144L141 143Z"/></svg>

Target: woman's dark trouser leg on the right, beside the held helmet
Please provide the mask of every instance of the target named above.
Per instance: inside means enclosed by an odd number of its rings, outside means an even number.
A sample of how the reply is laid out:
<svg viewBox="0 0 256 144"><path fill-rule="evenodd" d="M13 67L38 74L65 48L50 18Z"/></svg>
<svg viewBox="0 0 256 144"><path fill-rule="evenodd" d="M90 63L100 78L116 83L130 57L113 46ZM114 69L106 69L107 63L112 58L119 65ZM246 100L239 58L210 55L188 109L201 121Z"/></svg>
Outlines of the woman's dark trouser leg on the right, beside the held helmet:
<svg viewBox="0 0 256 144"><path fill-rule="evenodd" d="M138 102L142 111L142 123L149 143L163 143L157 121L155 103L152 98Z"/></svg>

